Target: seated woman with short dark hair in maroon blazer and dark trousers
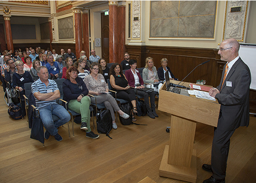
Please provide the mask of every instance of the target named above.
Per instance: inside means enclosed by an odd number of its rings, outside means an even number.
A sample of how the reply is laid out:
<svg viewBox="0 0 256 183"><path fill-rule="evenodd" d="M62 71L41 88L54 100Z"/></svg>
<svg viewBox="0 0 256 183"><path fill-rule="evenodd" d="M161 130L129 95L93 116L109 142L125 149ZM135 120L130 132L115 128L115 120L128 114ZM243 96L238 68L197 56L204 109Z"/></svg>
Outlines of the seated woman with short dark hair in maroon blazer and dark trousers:
<svg viewBox="0 0 256 183"><path fill-rule="evenodd" d="M129 64L131 68L129 70L125 71L125 77L128 81L128 84L130 87L134 87L135 89L142 89L145 88L143 79L140 76L139 70L136 69L137 67L137 60L131 59L129 61ZM146 92L142 90L137 90L135 93L138 92L138 95L142 96L144 98L146 108L147 108L147 115L150 118L155 118L158 117L158 115L155 112L155 96L154 96L154 91L151 92ZM150 96L150 105L149 105L149 99L148 97Z"/></svg>

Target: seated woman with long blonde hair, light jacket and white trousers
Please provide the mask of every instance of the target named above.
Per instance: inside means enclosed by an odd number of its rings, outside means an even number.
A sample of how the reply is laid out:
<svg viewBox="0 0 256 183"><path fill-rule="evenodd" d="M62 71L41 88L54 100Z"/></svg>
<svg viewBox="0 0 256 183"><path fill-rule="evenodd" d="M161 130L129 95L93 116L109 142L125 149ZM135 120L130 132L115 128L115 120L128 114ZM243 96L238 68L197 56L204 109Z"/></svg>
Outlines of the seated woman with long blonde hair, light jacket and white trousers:
<svg viewBox="0 0 256 183"><path fill-rule="evenodd" d="M146 85L147 88L154 88L154 91L159 93L159 89L162 87L163 84L159 83L157 86L151 84L158 82L158 75L154 66L153 58L147 57L145 62L145 68L142 71L143 82L149 83L149 85Z"/></svg>

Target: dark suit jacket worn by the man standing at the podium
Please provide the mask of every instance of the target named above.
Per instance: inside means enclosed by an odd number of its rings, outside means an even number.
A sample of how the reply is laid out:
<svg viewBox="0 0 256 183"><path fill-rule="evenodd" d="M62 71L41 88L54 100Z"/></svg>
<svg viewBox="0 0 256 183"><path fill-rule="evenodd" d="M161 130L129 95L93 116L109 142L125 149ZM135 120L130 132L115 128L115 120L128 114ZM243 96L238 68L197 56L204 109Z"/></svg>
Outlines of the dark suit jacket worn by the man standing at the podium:
<svg viewBox="0 0 256 183"><path fill-rule="evenodd" d="M251 75L248 66L239 58L231 67L226 81L220 90L224 72L225 69L223 69L221 81L217 87L220 93L215 96L221 104L217 129L230 131L235 130L239 126L249 125L249 87ZM227 86L227 81L232 82L231 87Z"/></svg>

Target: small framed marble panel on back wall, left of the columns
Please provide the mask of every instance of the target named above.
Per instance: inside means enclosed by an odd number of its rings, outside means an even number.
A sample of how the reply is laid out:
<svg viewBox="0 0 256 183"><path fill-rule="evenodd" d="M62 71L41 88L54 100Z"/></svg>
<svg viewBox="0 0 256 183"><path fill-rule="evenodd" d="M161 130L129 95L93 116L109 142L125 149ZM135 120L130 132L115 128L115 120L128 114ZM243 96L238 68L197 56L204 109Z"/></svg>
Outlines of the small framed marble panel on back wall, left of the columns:
<svg viewBox="0 0 256 183"><path fill-rule="evenodd" d="M74 39L73 17L58 19L59 39Z"/></svg>

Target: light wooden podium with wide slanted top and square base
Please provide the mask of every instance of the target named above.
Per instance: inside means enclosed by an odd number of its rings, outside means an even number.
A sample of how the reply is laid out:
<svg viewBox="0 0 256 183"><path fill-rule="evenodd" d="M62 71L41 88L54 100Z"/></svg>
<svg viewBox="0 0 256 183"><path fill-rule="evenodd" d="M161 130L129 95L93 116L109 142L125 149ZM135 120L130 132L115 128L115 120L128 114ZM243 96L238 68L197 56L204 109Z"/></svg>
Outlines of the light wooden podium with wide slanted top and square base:
<svg viewBox="0 0 256 183"><path fill-rule="evenodd" d="M179 81L170 81L178 84ZM189 87L190 83L179 85ZM197 122L217 127L220 104L159 90L158 110L171 114L170 142L166 145L159 176L196 182L197 152L193 149Z"/></svg>

